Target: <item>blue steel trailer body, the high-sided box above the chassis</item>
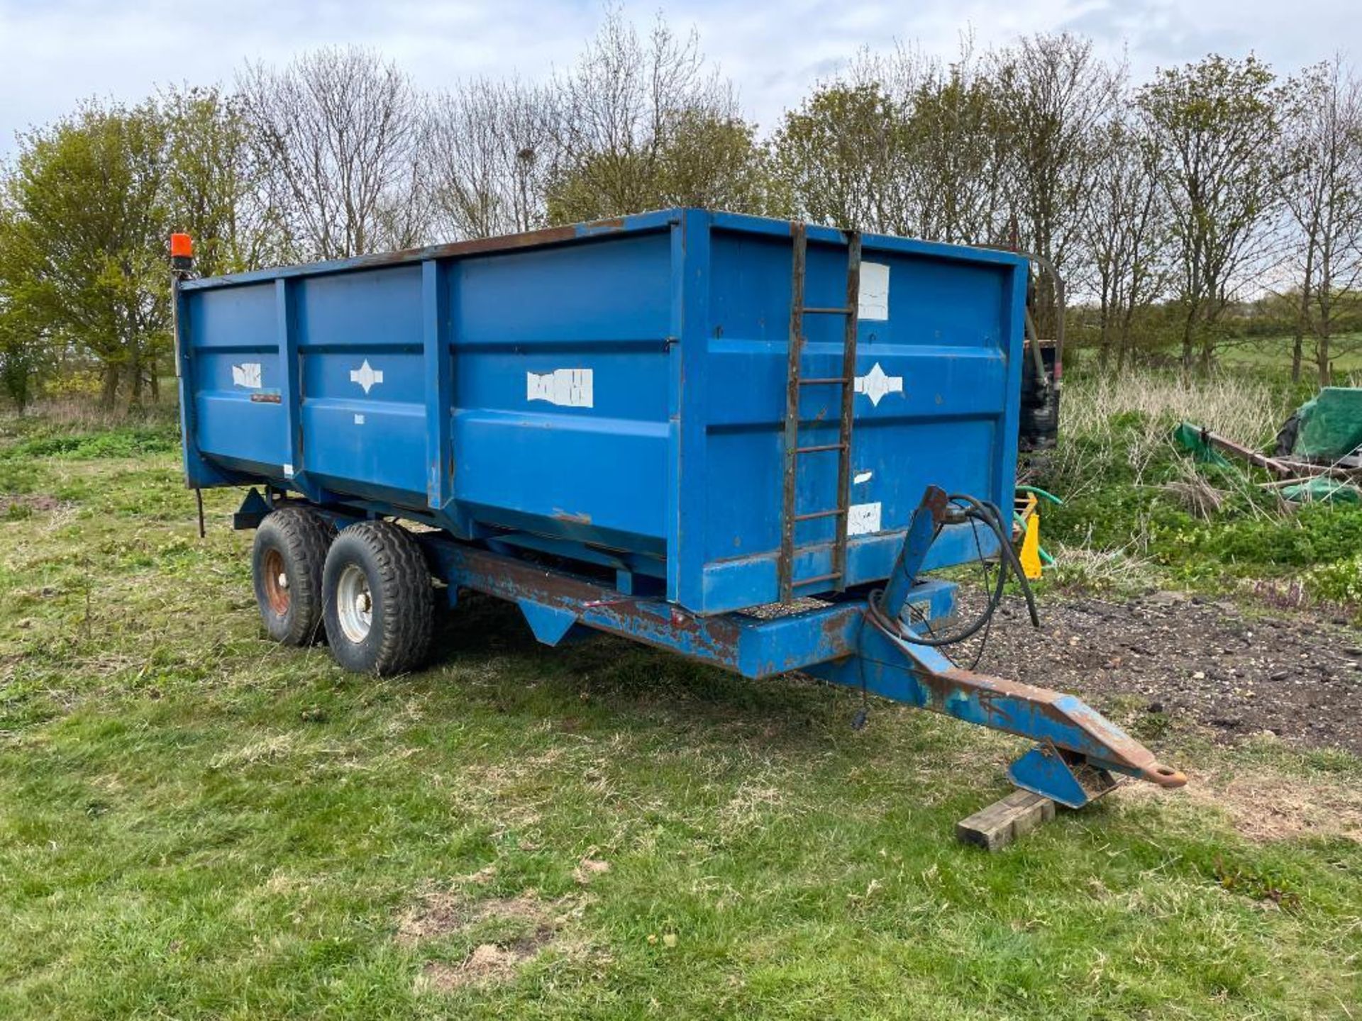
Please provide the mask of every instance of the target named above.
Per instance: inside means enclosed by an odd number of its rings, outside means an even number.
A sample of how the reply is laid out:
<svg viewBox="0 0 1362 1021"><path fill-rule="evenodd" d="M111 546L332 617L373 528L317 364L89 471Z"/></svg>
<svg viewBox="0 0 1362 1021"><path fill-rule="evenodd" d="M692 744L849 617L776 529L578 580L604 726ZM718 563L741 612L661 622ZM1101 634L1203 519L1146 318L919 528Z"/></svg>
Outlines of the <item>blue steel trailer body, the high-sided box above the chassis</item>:
<svg viewBox="0 0 1362 1021"><path fill-rule="evenodd" d="M775 602L791 225L701 210L192 280L180 293L191 485L268 482L659 579L693 613ZM793 588L883 580L923 487L1012 502L1026 260L862 240L846 572L795 527ZM809 227L805 304L844 304L847 236ZM843 321L808 316L806 378ZM805 447L838 440L805 387ZM795 468L836 502L838 453ZM985 536L982 542L990 539ZM929 566L978 557L955 530Z"/></svg>

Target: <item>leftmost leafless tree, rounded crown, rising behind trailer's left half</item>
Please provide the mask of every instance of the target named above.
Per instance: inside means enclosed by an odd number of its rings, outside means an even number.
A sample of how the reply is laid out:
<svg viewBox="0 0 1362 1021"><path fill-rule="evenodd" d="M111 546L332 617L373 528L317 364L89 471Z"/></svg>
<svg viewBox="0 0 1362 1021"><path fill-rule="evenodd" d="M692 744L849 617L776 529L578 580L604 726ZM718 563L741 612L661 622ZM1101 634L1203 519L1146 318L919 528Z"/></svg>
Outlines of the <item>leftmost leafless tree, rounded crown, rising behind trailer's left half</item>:
<svg viewBox="0 0 1362 1021"><path fill-rule="evenodd" d="M396 64L358 46L324 48L283 71L248 64L238 88L304 257L405 248L428 234L424 109Z"/></svg>

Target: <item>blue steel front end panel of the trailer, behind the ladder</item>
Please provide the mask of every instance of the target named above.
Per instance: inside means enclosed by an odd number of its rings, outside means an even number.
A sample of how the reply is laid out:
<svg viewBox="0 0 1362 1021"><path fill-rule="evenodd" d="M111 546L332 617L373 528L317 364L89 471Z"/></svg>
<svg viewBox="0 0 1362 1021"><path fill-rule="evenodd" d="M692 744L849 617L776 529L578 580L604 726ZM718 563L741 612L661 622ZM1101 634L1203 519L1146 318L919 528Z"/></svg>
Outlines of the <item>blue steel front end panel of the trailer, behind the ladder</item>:
<svg viewBox="0 0 1362 1021"><path fill-rule="evenodd" d="M791 279L789 231L767 223L716 215L711 241L704 399L686 411L686 425L704 434L708 470L703 595L682 602L703 613L768 602L776 592ZM840 233L810 231L808 305L844 304L846 259ZM861 320L857 374L883 376L891 388L854 402L849 584L885 577L928 485L1011 505L1020 387L1019 259L866 237L866 264L887 268L888 314ZM805 317L805 377L840 374L842 331L838 316ZM802 444L836 442L839 400L835 385L804 389ZM835 508L836 478L836 452L801 457L797 510ZM797 583L831 570L834 535L832 519L797 525ZM972 560L981 547L992 551L992 538L981 535L977 545L968 530L953 530L929 566Z"/></svg>

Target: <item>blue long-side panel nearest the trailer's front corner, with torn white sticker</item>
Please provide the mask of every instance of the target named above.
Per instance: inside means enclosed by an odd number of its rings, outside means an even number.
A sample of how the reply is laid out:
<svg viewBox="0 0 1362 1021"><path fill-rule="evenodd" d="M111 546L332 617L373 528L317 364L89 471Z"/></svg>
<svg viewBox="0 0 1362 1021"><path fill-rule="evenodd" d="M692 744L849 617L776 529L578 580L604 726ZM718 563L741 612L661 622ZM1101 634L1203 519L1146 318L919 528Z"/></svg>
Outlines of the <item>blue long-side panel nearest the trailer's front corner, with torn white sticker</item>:
<svg viewBox="0 0 1362 1021"><path fill-rule="evenodd" d="M466 259L454 290L454 494L462 520L666 550L667 230ZM535 396L590 373L590 396Z"/></svg>

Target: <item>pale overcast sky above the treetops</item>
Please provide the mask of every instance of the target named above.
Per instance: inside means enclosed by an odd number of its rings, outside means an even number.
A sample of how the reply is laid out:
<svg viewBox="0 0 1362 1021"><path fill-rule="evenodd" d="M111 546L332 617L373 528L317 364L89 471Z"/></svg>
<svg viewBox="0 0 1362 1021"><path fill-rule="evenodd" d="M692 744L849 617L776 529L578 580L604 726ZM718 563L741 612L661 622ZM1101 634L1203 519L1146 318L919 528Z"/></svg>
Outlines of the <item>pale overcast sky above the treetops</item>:
<svg viewBox="0 0 1362 1021"><path fill-rule="evenodd" d="M761 128L861 46L917 41L949 56L964 30L979 48L1080 31L1103 53L1128 53L1137 78L1211 50L1254 50L1280 71L1335 50L1362 59L1358 0L663 0L625 10L646 25L659 8L673 29L699 29ZM432 88L512 71L537 79L571 63L601 18L598 0L0 0L0 155L15 131L83 97L135 101L155 84L230 82L242 60L283 63L324 44L376 46Z"/></svg>

